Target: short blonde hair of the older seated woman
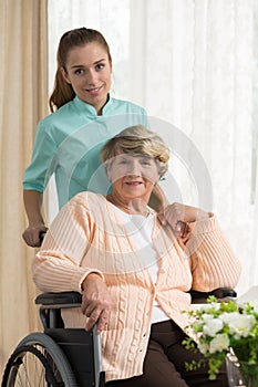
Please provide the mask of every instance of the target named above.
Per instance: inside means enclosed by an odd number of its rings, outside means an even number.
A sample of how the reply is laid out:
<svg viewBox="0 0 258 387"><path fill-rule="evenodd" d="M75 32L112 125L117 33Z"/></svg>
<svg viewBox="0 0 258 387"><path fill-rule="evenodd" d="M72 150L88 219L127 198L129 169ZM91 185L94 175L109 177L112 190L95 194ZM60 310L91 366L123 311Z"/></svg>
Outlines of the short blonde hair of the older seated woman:
<svg viewBox="0 0 258 387"><path fill-rule="evenodd" d="M101 149L100 157L109 168L121 154L146 155L155 159L161 177L168 169L169 149L162 137L143 125L130 126L111 138Z"/></svg>

